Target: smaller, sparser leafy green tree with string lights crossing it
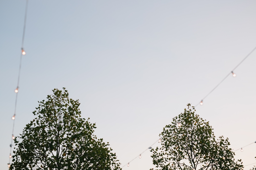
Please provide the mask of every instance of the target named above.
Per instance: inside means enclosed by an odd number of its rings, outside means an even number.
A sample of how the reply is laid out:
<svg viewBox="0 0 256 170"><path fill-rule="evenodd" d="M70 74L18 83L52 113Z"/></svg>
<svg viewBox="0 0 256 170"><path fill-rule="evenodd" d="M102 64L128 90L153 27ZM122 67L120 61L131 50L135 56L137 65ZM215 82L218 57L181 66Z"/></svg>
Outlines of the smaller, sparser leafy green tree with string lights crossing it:
<svg viewBox="0 0 256 170"><path fill-rule="evenodd" d="M152 149L153 164L160 170L217 170L242 169L228 148L228 138L216 139L212 127L195 108L187 105L184 113L174 117L159 135L161 147Z"/></svg>

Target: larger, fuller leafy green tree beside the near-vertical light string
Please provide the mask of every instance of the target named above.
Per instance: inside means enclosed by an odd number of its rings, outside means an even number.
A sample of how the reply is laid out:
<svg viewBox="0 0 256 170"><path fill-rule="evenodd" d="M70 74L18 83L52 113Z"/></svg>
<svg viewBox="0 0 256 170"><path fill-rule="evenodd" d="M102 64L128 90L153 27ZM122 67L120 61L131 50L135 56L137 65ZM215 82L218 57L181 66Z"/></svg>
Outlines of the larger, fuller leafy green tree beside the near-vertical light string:
<svg viewBox="0 0 256 170"><path fill-rule="evenodd" d="M117 170L120 163L108 143L93 134L95 123L81 118L78 100L54 89L39 102L36 118L16 137L10 169Z"/></svg>

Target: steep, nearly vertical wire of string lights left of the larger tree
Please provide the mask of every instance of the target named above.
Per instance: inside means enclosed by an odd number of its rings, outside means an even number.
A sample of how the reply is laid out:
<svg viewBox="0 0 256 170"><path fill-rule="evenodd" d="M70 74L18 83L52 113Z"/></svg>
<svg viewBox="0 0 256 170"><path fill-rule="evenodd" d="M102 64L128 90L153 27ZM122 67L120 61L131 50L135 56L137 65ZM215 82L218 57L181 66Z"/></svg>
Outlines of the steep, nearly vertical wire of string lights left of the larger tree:
<svg viewBox="0 0 256 170"><path fill-rule="evenodd" d="M24 38L25 38L25 30L26 30L26 23L27 23L27 12L28 12L28 0L26 0L26 7L25 7L25 17L24 17L24 26L23 26L23 34L22 34L22 41L21 41L21 53L20 53L20 67L19 67L19 74L18 74L18 83L17 83L17 88L15 90L16 92L16 98L15 98L15 107L14 107L14 115L12 117L13 119L13 125L12 125L12 141L15 138L13 135L14 132L14 124L15 124L15 115L16 115L16 108L17 108L17 100L18 100L18 91L19 91L19 83L20 83L20 71L21 71L21 63L22 63L22 55L25 55L25 51L23 49L24 46ZM9 156L9 163L8 166L10 167L10 162L12 158L12 141L10 144L10 156Z"/></svg>

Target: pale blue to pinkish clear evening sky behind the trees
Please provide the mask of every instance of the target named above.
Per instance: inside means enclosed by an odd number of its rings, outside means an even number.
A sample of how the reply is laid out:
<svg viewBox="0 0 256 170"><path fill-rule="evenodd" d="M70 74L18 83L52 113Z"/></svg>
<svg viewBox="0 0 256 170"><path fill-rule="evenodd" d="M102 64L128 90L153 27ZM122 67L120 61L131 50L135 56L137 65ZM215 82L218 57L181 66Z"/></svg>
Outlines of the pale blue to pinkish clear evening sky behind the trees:
<svg viewBox="0 0 256 170"><path fill-rule="evenodd" d="M0 1L0 169L8 168L25 4ZM14 135L37 101L66 87L125 165L256 46L255 21L253 0L30 0ZM256 141L255 65L256 52L196 107L234 150ZM235 158L256 163L256 144L243 150ZM154 168L150 155L123 169Z"/></svg>

